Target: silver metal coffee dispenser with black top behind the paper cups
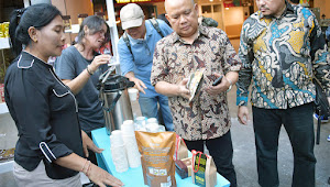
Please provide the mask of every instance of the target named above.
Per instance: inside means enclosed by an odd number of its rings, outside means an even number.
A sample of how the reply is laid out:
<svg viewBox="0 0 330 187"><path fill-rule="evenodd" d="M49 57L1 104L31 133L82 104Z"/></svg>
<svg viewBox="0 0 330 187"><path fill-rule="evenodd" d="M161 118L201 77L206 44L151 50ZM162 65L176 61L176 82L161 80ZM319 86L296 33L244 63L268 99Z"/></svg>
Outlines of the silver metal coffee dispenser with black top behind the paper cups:
<svg viewBox="0 0 330 187"><path fill-rule="evenodd" d="M108 135L113 130L120 130L124 120L133 120L132 107L128 94L128 88L134 82L120 75L100 76L98 89L102 102Z"/></svg>

